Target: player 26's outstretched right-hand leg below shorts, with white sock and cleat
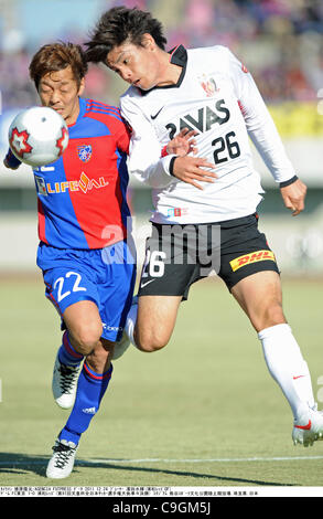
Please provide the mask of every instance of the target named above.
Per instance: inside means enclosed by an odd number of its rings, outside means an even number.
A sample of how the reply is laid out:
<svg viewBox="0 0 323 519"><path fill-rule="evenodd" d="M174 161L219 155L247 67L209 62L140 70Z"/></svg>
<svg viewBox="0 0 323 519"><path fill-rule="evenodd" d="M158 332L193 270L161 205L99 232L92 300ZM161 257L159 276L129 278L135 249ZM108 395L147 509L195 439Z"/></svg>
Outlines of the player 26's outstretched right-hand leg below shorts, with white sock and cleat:
<svg viewBox="0 0 323 519"><path fill-rule="evenodd" d="M232 293L258 332L268 370L291 406L294 443L312 444L323 435L323 417L315 410L308 363L283 315L279 275L254 274Z"/></svg>

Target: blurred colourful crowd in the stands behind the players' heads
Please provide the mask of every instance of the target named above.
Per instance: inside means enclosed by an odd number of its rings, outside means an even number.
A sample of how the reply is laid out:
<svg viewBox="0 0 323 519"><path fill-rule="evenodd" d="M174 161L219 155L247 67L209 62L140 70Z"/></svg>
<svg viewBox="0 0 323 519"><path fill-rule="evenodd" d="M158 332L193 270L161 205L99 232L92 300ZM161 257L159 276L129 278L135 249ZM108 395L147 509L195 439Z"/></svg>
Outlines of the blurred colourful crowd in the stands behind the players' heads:
<svg viewBox="0 0 323 519"><path fill-rule="evenodd" d="M50 2L50 0L49 0ZM268 103L284 99L315 100L322 85L323 2L321 0L182 0L175 3L155 0L115 1L128 8L157 12L168 18L168 41L186 47L218 43L229 46L237 56L244 55L252 64L254 76ZM161 15L162 14L162 15ZM319 36L319 38L315 38ZM46 38L49 34L46 34ZM66 39L66 34L54 34ZM252 43L257 39L257 45ZM26 74L34 49L25 47L19 38L14 46L0 43L0 75L2 106L4 109L37 104ZM11 40L11 39L10 39ZM83 34L74 31L74 42L83 41ZM7 39L8 41L8 39ZM42 42L39 42L42 44ZM308 46L310 45L311 59ZM36 45L37 46L37 45ZM118 83L101 71L89 70L86 94L115 103ZM99 89L98 89L99 85ZM109 91L109 97L107 95ZM115 98L111 98L115 97Z"/></svg>

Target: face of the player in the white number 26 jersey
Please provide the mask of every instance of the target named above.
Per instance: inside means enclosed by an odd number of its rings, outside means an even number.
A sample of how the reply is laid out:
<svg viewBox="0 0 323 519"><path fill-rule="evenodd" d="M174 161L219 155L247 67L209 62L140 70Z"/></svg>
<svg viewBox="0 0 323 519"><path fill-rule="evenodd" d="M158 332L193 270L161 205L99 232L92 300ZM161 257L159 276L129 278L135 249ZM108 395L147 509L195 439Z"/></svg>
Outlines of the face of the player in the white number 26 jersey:
<svg viewBox="0 0 323 519"><path fill-rule="evenodd" d="M130 85L142 91L160 85L163 63L153 40L143 46L123 42L115 46L107 55L106 64Z"/></svg>

